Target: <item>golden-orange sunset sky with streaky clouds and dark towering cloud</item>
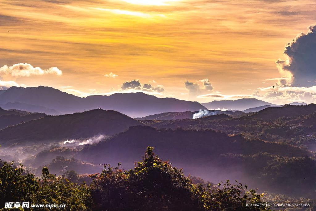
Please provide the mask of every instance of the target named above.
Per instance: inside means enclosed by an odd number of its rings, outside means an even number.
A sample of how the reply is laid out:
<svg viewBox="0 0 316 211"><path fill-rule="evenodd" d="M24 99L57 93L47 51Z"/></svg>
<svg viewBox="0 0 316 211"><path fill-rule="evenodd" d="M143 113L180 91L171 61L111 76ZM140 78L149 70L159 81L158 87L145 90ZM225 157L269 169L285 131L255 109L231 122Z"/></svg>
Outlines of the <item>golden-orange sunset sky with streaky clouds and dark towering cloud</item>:
<svg viewBox="0 0 316 211"><path fill-rule="evenodd" d="M3 90L316 102L313 0L2 0L0 8Z"/></svg>

